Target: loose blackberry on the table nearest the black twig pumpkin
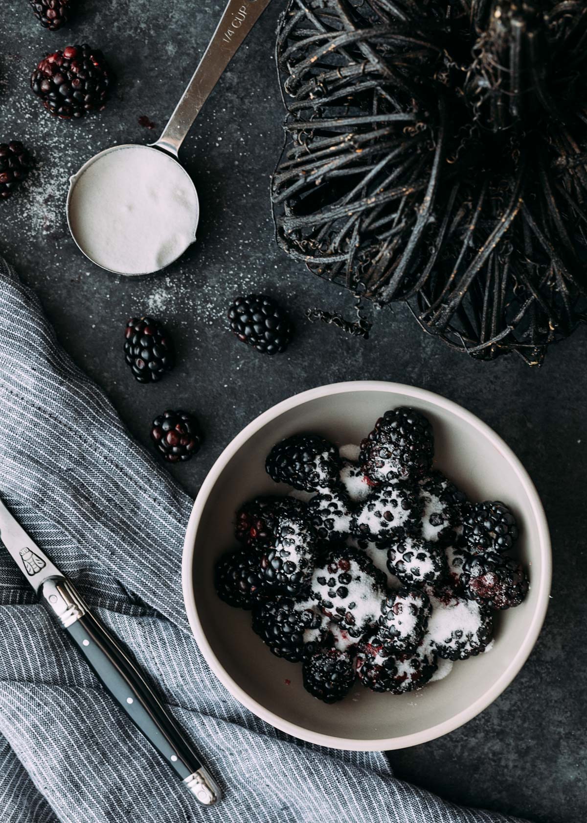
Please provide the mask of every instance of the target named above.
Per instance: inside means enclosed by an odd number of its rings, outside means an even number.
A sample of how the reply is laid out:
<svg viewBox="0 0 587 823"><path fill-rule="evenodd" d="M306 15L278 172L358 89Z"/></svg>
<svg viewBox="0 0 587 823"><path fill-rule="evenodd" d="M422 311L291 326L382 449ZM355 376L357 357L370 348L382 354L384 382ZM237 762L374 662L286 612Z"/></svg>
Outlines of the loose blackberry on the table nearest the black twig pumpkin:
<svg viewBox="0 0 587 823"><path fill-rule="evenodd" d="M285 351L294 335L289 314L267 295L237 297L228 316L238 339L266 355Z"/></svg>

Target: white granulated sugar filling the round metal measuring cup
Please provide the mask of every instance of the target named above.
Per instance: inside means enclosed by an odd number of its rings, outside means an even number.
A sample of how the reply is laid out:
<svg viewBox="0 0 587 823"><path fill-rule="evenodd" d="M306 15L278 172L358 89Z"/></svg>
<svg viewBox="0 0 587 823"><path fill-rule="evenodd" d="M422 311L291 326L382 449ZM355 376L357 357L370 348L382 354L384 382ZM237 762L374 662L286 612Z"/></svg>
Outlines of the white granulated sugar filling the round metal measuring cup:
<svg viewBox="0 0 587 823"><path fill-rule="evenodd" d="M113 272L147 274L173 263L196 239L198 202L187 172L148 146L94 160L70 201L73 234L87 256Z"/></svg>

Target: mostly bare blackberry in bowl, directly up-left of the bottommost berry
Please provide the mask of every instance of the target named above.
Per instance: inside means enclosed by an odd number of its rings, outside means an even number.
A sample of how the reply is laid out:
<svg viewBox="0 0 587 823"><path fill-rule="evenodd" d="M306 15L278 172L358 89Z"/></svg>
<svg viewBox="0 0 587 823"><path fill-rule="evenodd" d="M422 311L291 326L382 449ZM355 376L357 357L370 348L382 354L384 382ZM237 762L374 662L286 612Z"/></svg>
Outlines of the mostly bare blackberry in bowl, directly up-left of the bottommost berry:
<svg viewBox="0 0 587 823"><path fill-rule="evenodd" d="M278 658L298 663L317 649L322 618L311 606L292 597L259 602L252 611L252 629ZM307 643L305 637L311 637Z"/></svg>

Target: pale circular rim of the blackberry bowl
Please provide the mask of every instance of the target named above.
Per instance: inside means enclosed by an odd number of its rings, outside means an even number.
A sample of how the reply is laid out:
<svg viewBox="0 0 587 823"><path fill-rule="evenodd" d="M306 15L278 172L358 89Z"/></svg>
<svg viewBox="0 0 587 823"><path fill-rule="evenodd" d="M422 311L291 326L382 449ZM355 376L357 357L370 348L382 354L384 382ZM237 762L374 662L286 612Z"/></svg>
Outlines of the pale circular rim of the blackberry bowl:
<svg viewBox="0 0 587 823"><path fill-rule="evenodd" d="M529 630L525 635L525 639L522 644L520 644L520 649L518 649L515 654L515 658L511 661L506 670L502 672L501 677L496 681L496 683L493 684L493 686L488 688L488 690L484 692L478 700L475 700L473 704L470 704L449 720L446 720L443 723L438 723L436 726L431 726L420 732L414 732L402 737L381 737L377 739L369 738L363 740L357 738L334 737L300 727L296 723L291 723L288 720L284 720L284 718L280 718L278 714L269 711L263 705L258 703L257 700L253 700L250 695L247 695L247 692L244 691L241 686L238 686L238 683L230 677L228 672L226 672L212 650L206 635L204 634L196 607L192 574L196 531L200 522L201 514L210 495L210 491L215 485L215 482L218 480L218 477L220 477L220 473L224 470L224 467L227 463L229 463L229 460L233 458L233 455L238 451L238 449L240 449L241 446L246 443L247 439L260 430L264 425L294 407L301 406L303 403L315 400L317 398L326 397L327 395L351 393L356 391L400 393L414 399L431 402L432 405L441 407L448 412L452 412L462 420L467 421L470 425L473 425L479 433L488 438L495 448L502 453L508 463L511 464L511 467L517 473L520 478L520 482L522 486L524 486L525 492L528 495L532 513L538 527L538 549L543 563L543 574L539 583L538 600ZM275 728L280 729L280 731L291 734L294 737L301 738L307 742L316 743L319 746L327 746L328 748L333 749L344 749L347 751L393 751L395 749L403 749L408 746L418 746L421 743L434 740L437 737L447 734L448 732L454 731L455 728L459 728L464 723L468 723L469 720L482 712L483 709L486 709L488 705L491 704L493 700L496 700L496 698L501 695L501 692L510 685L511 681L514 680L517 673L520 672L521 667L529 658L529 654L534 648L536 639L538 639L538 635L542 629L546 611L548 609L551 580L552 554L548 521L546 514L544 513L543 505L538 497L538 491L536 491L533 481L530 479L525 467L522 463L520 463L520 460L515 456L515 453L510 449L505 441L502 440L501 437L492 430L492 428L490 428L490 426L483 423L482 420L480 420L472 412L468 412L458 403L448 400L440 394L429 392L424 388L417 388L415 386L409 386L401 383L391 383L385 380L353 380L344 383L318 386L317 388L311 388L302 393L294 394L292 397L277 403L275 406L270 407L266 412L263 412L261 415L257 416L230 441L222 453L220 453L220 456L216 459L214 465L210 468L210 472L206 475L206 479L202 483L200 491L194 501L192 514L190 515L187 523L186 536L183 543L182 588L183 602L187 611L187 620L192 628L192 633L196 638L196 642L201 653L204 655L206 662L223 686L229 690L230 694L233 695L239 703L243 704L247 709L250 709L253 714L257 715L257 717L265 720L267 723L270 723L270 725Z"/></svg>

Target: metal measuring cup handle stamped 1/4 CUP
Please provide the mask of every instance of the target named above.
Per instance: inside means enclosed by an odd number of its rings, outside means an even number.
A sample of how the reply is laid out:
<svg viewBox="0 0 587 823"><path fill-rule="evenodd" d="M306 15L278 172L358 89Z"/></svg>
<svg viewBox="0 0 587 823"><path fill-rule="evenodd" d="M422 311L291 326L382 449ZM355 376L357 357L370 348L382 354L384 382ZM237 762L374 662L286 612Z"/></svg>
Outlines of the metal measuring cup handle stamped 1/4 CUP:
<svg viewBox="0 0 587 823"><path fill-rule="evenodd" d="M179 146L200 114L210 91L269 3L270 0L229 0L192 80L169 118L163 134L151 146L158 146L174 157L178 156Z"/></svg>

